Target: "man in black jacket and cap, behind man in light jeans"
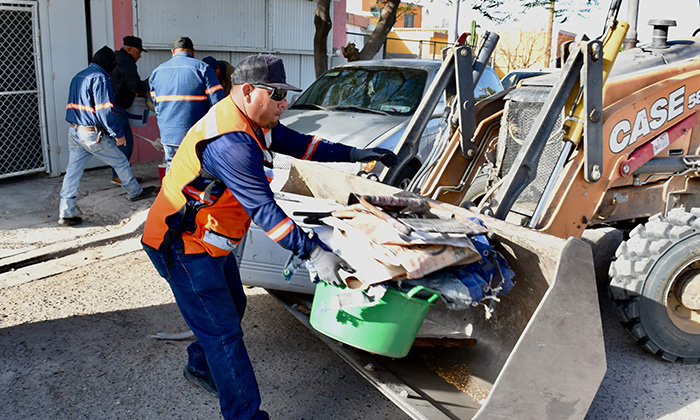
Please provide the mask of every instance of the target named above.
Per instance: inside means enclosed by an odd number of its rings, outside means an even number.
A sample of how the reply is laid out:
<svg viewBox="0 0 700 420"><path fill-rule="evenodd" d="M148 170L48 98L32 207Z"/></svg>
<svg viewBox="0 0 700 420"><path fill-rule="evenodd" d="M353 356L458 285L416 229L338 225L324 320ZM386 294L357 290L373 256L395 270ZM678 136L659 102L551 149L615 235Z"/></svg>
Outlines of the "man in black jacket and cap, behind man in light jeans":
<svg viewBox="0 0 700 420"><path fill-rule="evenodd" d="M141 38L136 36L125 36L124 46L114 53L114 58L117 62L117 67L112 71L111 81L114 89L114 113L119 118L119 123L124 131L126 144L118 146L119 150L124 153L126 159L131 159L131 153L134 150L134 135L131 132L129 125L129 117L126 114L126 109L134 103L134 97L148 95L148 81L141 80L139 71L136 68L136 62L141 58L143 49ZM112 169L112 183L120 185L121 180L117 173Z"/></svg>

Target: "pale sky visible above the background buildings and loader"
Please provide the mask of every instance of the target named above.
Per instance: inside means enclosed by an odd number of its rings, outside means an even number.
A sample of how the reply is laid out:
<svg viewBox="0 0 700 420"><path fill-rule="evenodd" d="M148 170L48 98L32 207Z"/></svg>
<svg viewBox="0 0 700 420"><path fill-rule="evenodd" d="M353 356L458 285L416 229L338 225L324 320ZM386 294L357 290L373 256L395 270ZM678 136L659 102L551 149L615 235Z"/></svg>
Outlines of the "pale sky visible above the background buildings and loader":
<svg viewBox="0 0 700 420"><path fill-rule="evenodd" d="M454 24L455 7L445 0L412 0L424 6L423 27L446 27ZM360 10L361 0L348 0L348 12ZM507 22L497 25L471 10L471 0L462 0L459 13L459 32L464 32L476 20L482 29L498 32L499 30L532 30L547 28L547 11L542 9L522 13L518 7L520 0L505 0L504 10L511 16ZM572 0L573 4L584 5L585 1ZM603 31L605 18L611 0L599 0L598 6L592 6L590 12L583 16L571 13L568 20L559 25L564 31L574 34L586 34L590 38L599 36ZM639 20L637 21L637 38L641 43L651 42L652 29L647 25L650 19L672 19L678 26L670 28L670 38L689 37L700 28L700 0L639 0ZM627 20L627 0L622 1L618 20ZM556 30L556 28L555 28Z"/></svg>

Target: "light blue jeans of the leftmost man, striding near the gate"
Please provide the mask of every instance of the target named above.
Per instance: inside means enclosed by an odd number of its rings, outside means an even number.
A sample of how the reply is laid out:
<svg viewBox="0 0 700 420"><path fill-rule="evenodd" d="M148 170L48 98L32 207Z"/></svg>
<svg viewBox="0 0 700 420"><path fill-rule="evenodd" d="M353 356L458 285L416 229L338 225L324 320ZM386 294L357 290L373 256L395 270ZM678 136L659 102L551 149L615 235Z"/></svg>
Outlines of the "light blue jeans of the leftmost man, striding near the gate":
<svg viewBox="0 0 700 420"><path fill-rule="evenodd" d="M136 197L143 191L134 174L131 173L129 161L117 149L114 140L108 135L102 136L99 142L97 139L97 132L91 133L73 127L68 129L68 167L61 188L61 203L58 210L60 218L77 216L75 199L78 195L80 178L83 176L90 156L95 156L117 171L119 179L122 180L122 188L126 190L129 198Z"/></svg>

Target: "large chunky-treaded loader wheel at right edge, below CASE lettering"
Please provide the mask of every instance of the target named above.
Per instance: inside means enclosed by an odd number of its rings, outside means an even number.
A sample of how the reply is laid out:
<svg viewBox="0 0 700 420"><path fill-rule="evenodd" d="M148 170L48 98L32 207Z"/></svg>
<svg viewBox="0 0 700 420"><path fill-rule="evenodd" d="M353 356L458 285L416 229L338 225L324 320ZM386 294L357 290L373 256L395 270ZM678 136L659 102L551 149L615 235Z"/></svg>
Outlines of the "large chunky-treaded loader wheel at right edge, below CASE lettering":
<svg viewBox="0 0 700 420"><path fill-rule="evenodd" d="M700 209L653 216L615 258L610 298L632 337L664 360L697 363L700 311L683 306L678 293L679 283L700 275Z"/></svg>

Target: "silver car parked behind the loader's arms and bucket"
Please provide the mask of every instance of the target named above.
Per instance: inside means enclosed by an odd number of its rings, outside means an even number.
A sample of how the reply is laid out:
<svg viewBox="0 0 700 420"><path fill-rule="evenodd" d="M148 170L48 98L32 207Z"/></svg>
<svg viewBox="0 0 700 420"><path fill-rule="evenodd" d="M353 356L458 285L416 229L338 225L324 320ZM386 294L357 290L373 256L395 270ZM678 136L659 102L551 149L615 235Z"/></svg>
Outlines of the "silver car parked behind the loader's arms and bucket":
<svg viewBox="0 0 700 420"><path fill-rule="evenodd" d="M300 133L349 146L394 150L440 64L437 60L395 59L355 61L334 67L293 100L280 121ZM487 67L474 96L478 100L501 90L498 77ZM430 153L442 108L436 107L438 114L423 132L418 152L399 169L394 186L405 188ZM277 156L275 166L288 168L290 159ZM383 168L376 162L329 165L370 178L377 178Z"/></svg>

